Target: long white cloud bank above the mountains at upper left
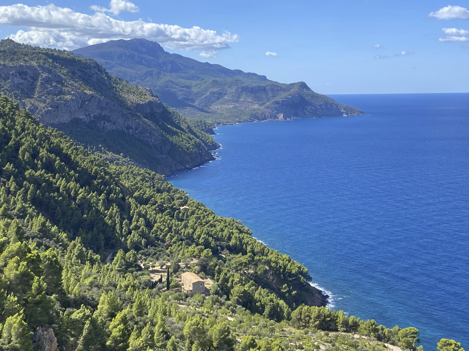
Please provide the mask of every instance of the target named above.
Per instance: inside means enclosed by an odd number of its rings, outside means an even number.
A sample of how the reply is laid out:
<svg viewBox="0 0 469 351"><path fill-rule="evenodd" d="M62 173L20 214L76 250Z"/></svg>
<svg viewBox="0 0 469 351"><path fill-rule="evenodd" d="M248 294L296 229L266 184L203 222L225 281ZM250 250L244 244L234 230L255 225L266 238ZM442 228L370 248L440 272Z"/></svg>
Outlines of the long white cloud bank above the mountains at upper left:
<svg viewBox="0 0 469 351"><path fill-rule="evenodd" d="M17 42L42 47L73 50L82 46L116 39L145 38L173 49L200 50L201 56L213 56L219 50L229 48L239 37L225 31L194 26L116 20L105 12L120 13L138 10L133 3L113 0L109 9L93 15L75 12L67 7L53 4L30 7L23 4L0 6L0 24L27 27L9 37Z"/></svg>

